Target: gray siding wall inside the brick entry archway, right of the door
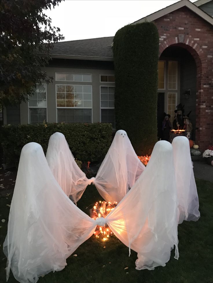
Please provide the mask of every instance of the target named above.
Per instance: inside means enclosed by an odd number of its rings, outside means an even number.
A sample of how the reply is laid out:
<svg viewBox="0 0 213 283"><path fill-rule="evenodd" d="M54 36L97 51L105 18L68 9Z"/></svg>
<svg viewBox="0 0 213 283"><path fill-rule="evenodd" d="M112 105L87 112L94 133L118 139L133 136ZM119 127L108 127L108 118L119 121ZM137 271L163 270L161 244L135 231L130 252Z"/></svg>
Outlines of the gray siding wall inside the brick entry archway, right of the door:
<svg viewBox="0 0 213 283"><path fill-rule="evenodd" d="M196 128L196 77L197 67L195 61L191 55L181 60L180 63L181 72L181 85L180 85L180 102L185 105L184 114L187 115L191 110L190 120L193 126L192 140L195 140L195 128ZM185 91L190 89L190 98L185 98Z"/></svg>

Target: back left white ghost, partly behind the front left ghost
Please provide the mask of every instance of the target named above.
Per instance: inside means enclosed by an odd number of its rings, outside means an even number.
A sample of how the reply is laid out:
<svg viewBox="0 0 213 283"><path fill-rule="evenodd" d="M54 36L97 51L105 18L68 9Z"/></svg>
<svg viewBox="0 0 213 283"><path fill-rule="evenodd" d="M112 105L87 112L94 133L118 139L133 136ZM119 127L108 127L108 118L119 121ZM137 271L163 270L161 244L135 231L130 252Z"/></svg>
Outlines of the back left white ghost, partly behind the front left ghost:
<svg viewBox="0 0 213 283"><path fill-rule="evenodd" d="M49 138L46 158L60 187L74 203L77 203L91 180L87 179L76 164L62 133L56 132Z"/></svg>

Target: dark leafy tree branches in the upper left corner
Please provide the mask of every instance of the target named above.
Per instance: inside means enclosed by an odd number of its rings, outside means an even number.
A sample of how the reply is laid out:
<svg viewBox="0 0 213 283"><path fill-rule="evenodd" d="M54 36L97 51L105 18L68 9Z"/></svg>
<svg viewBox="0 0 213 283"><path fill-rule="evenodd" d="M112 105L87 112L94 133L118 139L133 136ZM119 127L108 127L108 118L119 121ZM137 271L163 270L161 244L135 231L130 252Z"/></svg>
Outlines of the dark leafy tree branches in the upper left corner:
<svg viewBox="0 0 213 283"><path fill-rule="evenodd" d="M62 0L1 0L0 2L0 104L17 104L33 95L36 83L50 83L41 67L48 64L53 43L63 40L44 10ZM42 54L45 54L42 55Z"/></svg>

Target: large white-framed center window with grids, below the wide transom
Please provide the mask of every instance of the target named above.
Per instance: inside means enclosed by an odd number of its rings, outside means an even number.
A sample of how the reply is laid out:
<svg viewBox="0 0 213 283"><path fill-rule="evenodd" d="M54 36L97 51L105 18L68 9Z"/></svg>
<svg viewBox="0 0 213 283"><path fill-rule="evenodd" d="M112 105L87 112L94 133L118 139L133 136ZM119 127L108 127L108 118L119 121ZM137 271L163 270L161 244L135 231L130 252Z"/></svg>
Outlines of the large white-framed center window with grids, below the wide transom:
<svg viewBox="0 0 213 283"><path fill-rule="evenodd" d="M57 121L92 122L92 86L56 85Z"/></svg>

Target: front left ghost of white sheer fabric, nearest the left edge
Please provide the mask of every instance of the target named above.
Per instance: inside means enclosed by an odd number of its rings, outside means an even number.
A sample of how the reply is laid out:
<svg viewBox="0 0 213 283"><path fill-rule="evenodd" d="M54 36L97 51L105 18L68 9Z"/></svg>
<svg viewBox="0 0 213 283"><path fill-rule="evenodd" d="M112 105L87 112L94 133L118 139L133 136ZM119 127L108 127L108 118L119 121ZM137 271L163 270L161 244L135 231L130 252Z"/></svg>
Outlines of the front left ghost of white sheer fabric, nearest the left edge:
<svg viewBox="0 0 213 283"><path fill-rule="evenodd" d="M3 250L16 280L37 282L62 270L66 258L94 232L96 222L66 196L47 164L41 145L21 151Z"/></svg>

